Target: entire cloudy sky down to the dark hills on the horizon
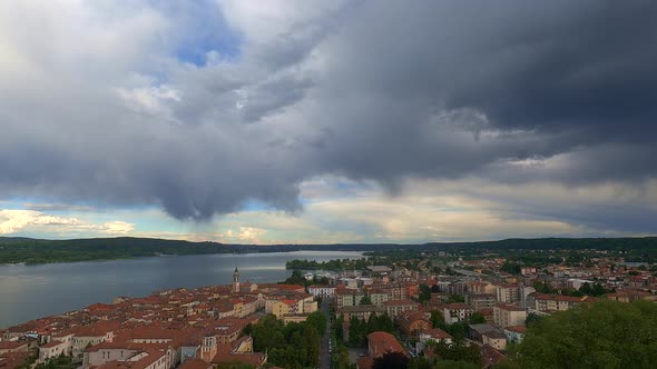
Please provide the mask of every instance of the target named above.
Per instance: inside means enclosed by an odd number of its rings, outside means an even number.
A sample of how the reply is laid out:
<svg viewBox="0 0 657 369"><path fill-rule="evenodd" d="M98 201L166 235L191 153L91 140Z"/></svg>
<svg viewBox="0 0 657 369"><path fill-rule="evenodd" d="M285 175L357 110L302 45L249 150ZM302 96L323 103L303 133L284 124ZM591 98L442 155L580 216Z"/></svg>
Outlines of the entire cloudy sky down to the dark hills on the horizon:
<svg viewBox="0 0 657 369"><path fill-rule="evenodd" d="M0 236L656 235L656 14L0 1Z"/></svg>

